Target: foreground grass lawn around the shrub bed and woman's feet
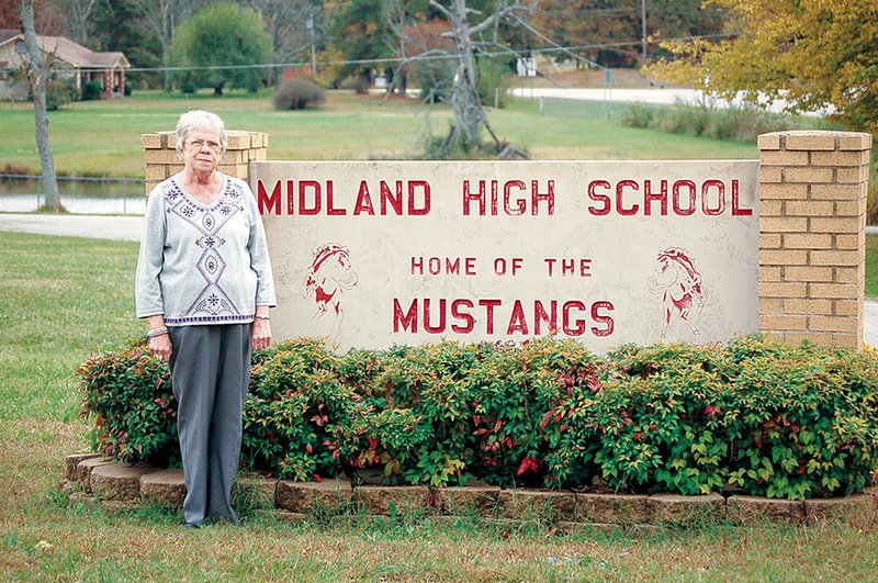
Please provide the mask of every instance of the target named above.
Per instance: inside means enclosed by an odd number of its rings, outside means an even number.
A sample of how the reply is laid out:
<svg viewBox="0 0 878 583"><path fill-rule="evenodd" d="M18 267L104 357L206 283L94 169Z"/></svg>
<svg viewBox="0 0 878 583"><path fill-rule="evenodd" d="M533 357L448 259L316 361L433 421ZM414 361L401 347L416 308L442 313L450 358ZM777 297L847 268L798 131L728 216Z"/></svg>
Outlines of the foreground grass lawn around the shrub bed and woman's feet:
<svg viewBox="0 0 878 583"><path fill-rule="evenodd" d="M874 243L874 242L873 242ZM584 530L462 518L340 519L190 532L157 508L108 514L57 490L85 450L75 370L143 333L137 245L0 233L0 579L870 580L878 527ZM870 253L875 253L875 247Z"/></svg>

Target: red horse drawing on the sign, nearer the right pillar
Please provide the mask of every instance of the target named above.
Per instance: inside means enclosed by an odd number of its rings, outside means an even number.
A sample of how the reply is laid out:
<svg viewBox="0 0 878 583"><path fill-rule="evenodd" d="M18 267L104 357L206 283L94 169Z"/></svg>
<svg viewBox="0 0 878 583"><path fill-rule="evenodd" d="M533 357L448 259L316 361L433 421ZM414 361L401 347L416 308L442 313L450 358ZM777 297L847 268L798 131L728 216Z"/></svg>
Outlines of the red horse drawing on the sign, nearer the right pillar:
<svg viewBox="0 0 878 583"><path fill-rule="evenodd" d="M688 324L693 334L700 335L698 327L689 321L693 303L700 314L705 305L705 291L701 288L701 274L695 268L688 251L669 247L656 257L658 265L655 274L650 278L650 292L662 295L664 318L662 319L662 338L667 325L676 312L679 318Z"/></svg>

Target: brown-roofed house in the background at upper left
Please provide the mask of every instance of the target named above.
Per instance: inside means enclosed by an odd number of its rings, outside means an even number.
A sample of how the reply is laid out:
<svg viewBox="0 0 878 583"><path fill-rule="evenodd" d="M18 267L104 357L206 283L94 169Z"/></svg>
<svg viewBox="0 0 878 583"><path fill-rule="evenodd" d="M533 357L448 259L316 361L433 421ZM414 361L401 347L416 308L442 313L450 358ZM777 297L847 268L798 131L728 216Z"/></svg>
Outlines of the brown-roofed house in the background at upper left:
<svg viewBox="0 0 878 583"><path fill-rule="evenodd" d="M77 91L91 80L103 88L104 99L125 92L125 69L131 67L123 53L95 53L64 36L36 36L42 57L50 59L56 77L70 79ZM23 72L27 61L24 36L15 30L0 29L0 100L27 99L30 87Z"/></svg>

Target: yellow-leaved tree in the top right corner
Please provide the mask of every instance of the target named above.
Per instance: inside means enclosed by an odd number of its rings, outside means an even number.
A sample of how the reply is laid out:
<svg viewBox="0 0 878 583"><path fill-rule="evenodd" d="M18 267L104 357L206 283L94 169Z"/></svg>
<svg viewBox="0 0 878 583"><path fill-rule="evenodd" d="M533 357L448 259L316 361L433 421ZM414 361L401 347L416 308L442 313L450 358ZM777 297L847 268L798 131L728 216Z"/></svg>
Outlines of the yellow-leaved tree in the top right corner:
<svg viewBox="0 0 878 583"><path fill-rule="evenodd" d="M664 45L676 60L650 72L753 103L783 99L789 112L832 106L855 130L878 133L878 2L707 0L743 31L719 43ZM740 92L740 93L739 93Z"/></svg>

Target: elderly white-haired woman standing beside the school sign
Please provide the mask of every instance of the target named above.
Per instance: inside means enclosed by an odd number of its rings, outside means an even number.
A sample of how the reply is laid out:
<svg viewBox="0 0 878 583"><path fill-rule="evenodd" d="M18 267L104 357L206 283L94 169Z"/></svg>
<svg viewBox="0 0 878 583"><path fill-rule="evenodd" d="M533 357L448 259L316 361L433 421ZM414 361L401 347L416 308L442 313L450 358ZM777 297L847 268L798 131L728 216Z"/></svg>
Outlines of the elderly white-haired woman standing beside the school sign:
<svg viewBox="0 0 878 583"><path fill-rule="evenodd" d="M266 234L249 187L217 171L223 121L190 111L177 124L183 170L149 194L137 261L137 317L171 369L187 528L239 524L232 508L250 354L271 344L275 305Z"/></svg>

